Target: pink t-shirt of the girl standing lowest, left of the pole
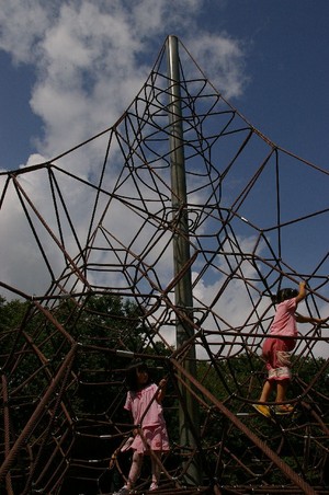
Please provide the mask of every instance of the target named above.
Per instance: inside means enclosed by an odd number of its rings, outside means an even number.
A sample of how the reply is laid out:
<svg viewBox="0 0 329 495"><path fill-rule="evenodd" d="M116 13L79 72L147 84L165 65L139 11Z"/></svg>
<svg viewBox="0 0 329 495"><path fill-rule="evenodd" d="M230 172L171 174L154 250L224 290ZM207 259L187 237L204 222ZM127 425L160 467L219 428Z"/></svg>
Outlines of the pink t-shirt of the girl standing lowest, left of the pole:
<svg viewBox="0 0 329 495"><path fill-rule="evenodd" d="M151 405L143 417L141 426L149 427L163 425L164 417L162 406L156 399L152 401L157 392L158 387L155 383L147 385L138 392L128 391L124 408L132 412L135 425L140 424L144 412L147 410L150 402Z"/></svg>

